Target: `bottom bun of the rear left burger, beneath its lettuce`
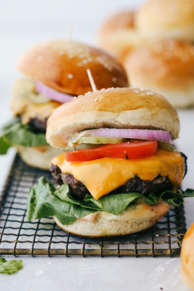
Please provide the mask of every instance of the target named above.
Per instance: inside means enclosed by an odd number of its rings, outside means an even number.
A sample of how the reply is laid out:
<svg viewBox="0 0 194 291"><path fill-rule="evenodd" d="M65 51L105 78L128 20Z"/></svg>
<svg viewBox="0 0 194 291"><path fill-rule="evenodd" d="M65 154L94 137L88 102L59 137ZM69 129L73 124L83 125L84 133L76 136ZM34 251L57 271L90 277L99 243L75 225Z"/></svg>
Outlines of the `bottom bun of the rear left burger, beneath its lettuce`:
<svg viewBox="0 0 194 291"><path fill-rule="evenodd" d="M35 148L15 145L22 160L29 166L49 170L51 160L61 154L61 150L50 145L40 145Z"/></svg>

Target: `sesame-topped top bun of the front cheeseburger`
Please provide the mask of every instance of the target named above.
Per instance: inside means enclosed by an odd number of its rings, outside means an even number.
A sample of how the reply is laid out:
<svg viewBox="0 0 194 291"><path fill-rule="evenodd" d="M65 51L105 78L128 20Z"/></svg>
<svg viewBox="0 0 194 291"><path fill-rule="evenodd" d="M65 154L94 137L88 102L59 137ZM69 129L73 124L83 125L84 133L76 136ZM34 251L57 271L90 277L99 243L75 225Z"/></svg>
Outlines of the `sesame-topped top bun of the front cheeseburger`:
<svg viewBox="0 0 194 291"><path fill-rule="evenodd" d="M88 128L163 129L179 134L177 111L161 95L132 88L86 93L62 104L47 121L47 142L64 148L70 135Z"/></svg>

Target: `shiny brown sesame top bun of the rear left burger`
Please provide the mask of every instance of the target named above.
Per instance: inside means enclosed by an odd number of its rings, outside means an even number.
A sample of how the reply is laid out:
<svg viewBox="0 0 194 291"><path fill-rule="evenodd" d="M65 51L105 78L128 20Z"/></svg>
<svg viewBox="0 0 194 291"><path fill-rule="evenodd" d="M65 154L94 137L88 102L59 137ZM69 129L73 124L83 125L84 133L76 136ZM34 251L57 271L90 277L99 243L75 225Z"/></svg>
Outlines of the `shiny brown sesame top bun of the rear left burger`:
<svg viewBox="0 0 194 291"><path fill-rule="evenodd" d="M91 70L97 89L128 86L126 73L114 58L71 40L42 42L24 52L16 65L23 74L72 95L92 90L87 69Z"/></svg>

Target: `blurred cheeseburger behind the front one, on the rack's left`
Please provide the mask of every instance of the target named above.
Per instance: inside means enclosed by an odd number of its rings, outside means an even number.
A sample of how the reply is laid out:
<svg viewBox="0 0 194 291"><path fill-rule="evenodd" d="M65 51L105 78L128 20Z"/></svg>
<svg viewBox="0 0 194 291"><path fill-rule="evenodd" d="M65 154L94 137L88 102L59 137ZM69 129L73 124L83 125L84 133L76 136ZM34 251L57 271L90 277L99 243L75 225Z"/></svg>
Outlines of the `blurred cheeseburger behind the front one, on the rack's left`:
<svg viewBox="0 0 194 291"><path fill-rule="evenodd" d="M25 77L13 86L11 108L15 118L1 129L0 154L14 145L27 164L49 169L50 160L61 150L47 144L47 119L60 104L92 90L88 68L97 89L128 86L117 61L88 45L53 40L22 54L17 69Z"/></svg>

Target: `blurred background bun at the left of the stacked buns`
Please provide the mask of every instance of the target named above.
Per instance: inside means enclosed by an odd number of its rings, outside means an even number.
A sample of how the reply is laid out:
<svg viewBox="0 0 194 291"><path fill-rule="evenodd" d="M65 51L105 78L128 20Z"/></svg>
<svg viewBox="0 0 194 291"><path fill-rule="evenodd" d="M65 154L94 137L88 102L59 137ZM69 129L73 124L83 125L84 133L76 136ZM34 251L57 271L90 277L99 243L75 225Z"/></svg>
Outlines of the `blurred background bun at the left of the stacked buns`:
<svg viewBox="0 0 194 291"><path fill-rule="evenodd" d="M110 17L99 31L99 46L122 62L125 54L143 42L134 26L134 11Z"/></svg>

